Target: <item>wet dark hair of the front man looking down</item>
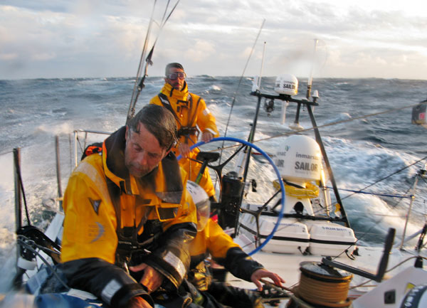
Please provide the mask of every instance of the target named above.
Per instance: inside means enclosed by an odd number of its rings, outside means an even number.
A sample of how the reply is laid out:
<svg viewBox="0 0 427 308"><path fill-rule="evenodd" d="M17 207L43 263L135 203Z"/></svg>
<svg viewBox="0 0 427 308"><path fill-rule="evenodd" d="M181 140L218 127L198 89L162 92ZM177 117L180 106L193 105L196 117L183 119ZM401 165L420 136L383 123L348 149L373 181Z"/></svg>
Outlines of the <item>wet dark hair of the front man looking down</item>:
<svg viewBox="0 0 427 308"><path fill-rule="evenodd" d="M127 127L132 131L138 131L138 123L157 138L160 147L169 150L176 142L176 120L172 112L159 105L145 105L139 112L127 122Z"/></svg>

